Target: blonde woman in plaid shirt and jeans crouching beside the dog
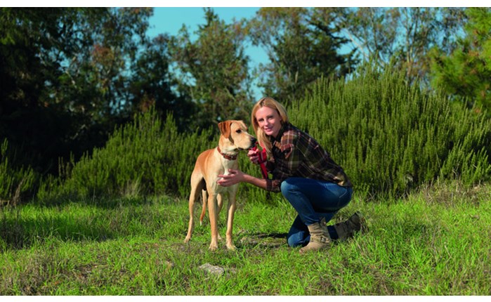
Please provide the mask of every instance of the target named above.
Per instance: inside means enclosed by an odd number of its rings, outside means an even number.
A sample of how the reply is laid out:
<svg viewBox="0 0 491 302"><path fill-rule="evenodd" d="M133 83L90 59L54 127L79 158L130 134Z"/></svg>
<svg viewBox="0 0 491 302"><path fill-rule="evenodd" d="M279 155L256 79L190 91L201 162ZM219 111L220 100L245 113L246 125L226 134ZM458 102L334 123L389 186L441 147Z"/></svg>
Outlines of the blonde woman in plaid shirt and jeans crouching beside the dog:
<svg viewBox="0 0 491 302"><path fill-rule="evenodd" d="M273 179L256 178L240 170L219 175L219 185L251 183L272 192L282 192L298 212L287 236L290 247L305 246L301 253L328 248L334 239L352 237L362 228L359 213L343 223L325 223L346 206L353 194L348 176L307 133L289 123L287 111L273 98L261 98L251 113L254 132L266 148L266 169ZM261 164L257 151L249 159Z"/></svg>

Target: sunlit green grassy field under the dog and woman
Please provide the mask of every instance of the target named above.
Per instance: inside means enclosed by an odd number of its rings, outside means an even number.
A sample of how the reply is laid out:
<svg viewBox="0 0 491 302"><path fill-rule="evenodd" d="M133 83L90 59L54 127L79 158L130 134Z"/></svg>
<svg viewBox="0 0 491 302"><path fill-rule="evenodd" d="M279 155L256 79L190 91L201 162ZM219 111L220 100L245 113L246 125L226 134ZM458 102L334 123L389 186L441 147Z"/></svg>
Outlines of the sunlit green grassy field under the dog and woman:
<svg viewBox="0 0 491 302"><path fill-rule="evenodd" d="M188 205L169 197L1 209L0 295L491 295L490 185L355 196L333 222L359 210L369 231L306 256L273 196L239 201L237 251L208 251L208 224L183 244Z"/></svg>

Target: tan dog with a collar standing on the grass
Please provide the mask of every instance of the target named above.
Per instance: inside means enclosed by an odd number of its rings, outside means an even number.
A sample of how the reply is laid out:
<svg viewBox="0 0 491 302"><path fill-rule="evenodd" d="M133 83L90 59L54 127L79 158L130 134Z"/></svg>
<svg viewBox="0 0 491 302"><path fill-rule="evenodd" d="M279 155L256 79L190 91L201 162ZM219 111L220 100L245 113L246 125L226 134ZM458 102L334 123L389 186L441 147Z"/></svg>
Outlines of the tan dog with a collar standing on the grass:
<svg viewBox="0 0 491 302"><path fill-rule="evenodd" d="M211 226L211 244L209 249L218 248L218 214L223 206L223 194L228 193L228 213L227 213L227 233L226 244L228 249L235 249L232 241L232 227L235 213L235 195L239 184L222 187L218 185L219 174L228 174L228 169L238 169L237 155L240 150L249 150L256 145L256 138L247 133L247 126L242 121L228 120L218 123L221 136L218 147L202 152L195 164L195 169L191 174L191 193L189 197L189 227L188 235L184 242L191 239L194 229L194 208L195 201L202 191L203 209L199 217L200 223L203 221L208 204L209 220ZM207 197L208 195L208 197Z"/></svg>

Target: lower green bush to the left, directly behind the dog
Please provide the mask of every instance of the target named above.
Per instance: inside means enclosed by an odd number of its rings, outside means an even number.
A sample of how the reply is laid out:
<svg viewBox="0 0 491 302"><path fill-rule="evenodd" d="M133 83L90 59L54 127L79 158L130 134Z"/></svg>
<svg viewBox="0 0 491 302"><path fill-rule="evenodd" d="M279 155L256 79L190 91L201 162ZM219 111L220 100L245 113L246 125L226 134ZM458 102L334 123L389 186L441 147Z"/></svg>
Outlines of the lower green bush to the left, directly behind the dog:
<svg viewBox="0 0 491 302"><path fill-rule="evenodd" d="M172 115L163 123L155 110L114 131L106 145L79 162L65 164L65 180L39 193L41 199L65 197L187 195L199 152L214 143L211 131L178 133ZM53 190L53 192L49 192Z"/></svg>

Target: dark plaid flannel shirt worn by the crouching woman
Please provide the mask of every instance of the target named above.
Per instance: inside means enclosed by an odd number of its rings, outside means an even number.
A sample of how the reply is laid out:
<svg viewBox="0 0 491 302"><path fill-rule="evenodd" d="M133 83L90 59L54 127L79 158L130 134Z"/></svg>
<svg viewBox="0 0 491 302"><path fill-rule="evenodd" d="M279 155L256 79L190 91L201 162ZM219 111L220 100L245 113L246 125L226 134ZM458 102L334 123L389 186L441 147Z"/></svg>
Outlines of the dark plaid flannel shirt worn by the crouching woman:
<svg viewBox="0 0 491 302"><path fill-rule="evenodd" d="M280 192L280 184L289 177L313 178L351 187L341 166L307 133L289 123L280 129L273 144L266 168L273 179L266 180L266 190Z"/></svg>

